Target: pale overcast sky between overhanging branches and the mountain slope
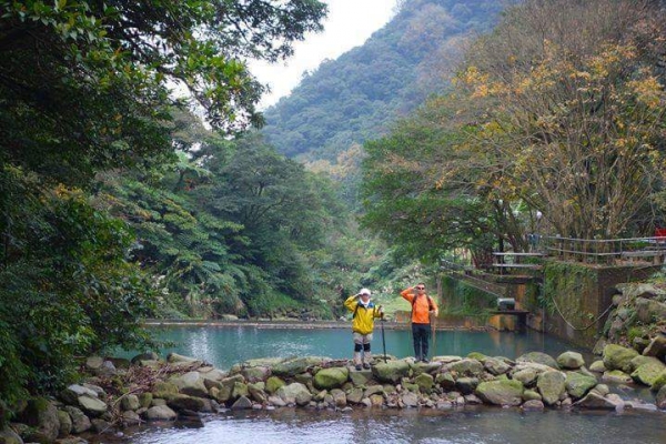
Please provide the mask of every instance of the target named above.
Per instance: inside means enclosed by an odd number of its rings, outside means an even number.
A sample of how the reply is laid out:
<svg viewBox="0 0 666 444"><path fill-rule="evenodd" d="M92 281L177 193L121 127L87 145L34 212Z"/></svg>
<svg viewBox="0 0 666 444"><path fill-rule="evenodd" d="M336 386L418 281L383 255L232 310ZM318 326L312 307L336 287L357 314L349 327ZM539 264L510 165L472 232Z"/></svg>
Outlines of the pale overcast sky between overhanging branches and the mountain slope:
<svg viewBox="0 0 666 444"><path fill-rule="evenodd" d="M329 4L324 31L306 34L294 44L295 53L286 62L269 64L251 62L250 71L259 81L268 83L260 108L275 103L299 84L304 71L319 67L324 59L335 59L359 47L391 19L396 0L323 0Z"/></svg>

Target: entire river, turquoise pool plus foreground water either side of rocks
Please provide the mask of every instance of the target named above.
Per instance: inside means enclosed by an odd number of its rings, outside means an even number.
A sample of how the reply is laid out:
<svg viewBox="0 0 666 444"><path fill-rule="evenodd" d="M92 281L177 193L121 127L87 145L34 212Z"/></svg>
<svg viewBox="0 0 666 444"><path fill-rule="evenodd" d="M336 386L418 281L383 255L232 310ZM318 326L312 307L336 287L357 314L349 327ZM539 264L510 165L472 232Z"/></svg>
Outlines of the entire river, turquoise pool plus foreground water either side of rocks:
<svg viewBox="0 0 666 444"><path fill-rule="evenodd" d="M160 337L179 344L169 351L203 359L220 369L266 356L321 355L334 359L351 354L351 333L333 330L264 330L258 327L179 326L159 329ZM410 333L386 330L386 351L397 357L411 355ZM441 331L435 341L438 355L517 357L529 351L553 356L577 350L564 342L528 331ZM374 350L381 354L381 331ZM578 350L581 351L581 350ZM585 351L581 351L585 352ZM585 353L587 364L594 359ZM647 391L614 387L624 398L646 398ZM130 444L215 443L599 443L666 444L666 413L625 410L579 412L546 410L523 413L518 408L467 406L460 410L366 410L351 413L281 408L272 412L231 412L210 415L201 428L179 424L151 425L127 431ZM93 442L95 442L93 440ZM99 443L104 442L97 441ZM111 442L111 441L109 441ZM118 442L118 441L113 441Z"/></svg>

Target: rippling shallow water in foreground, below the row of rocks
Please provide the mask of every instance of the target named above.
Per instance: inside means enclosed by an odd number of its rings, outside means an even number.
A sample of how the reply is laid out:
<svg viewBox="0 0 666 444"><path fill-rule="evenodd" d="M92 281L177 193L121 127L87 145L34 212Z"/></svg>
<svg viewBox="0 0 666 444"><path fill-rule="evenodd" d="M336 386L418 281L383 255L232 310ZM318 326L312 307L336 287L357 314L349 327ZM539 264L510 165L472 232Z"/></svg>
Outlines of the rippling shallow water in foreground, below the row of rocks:
<svg viewBox="0 0 666 444"><path fill-rule="evenodd" d="M313 443L666 443L664 413L485 408L452 412L360 410L350 414L283 410L229 413L203 428L147 428L133 444Z"/></svg>

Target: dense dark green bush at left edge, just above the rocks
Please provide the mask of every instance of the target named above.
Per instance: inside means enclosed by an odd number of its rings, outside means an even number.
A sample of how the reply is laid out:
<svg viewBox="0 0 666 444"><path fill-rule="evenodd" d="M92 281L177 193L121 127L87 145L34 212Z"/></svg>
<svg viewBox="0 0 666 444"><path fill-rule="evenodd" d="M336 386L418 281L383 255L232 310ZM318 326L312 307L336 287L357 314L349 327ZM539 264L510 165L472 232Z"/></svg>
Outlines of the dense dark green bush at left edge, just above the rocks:
<svg viewBox="0 0 666 444"><path fill-rule="evenodd" d="M80 190L50 190L10 168L0 190L0 398L11 407L26 392L68 382L75 356L151 345L138 320L153 305L139 269L125 261L125 225Z"/></svg>

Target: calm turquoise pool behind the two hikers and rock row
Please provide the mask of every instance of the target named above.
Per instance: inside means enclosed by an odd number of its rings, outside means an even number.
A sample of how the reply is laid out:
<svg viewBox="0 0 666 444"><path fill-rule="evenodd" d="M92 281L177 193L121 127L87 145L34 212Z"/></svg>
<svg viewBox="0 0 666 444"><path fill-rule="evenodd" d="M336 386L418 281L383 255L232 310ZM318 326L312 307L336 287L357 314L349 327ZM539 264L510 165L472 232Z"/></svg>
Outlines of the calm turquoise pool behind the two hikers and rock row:
<svg viewBox="0 0 666 444"><path fill-rule="evenodd" d="M344 359L352 355L352 333L349 329L292 330L260 329L252 326L173 326L157 329L158 336L176 343L167 352L175 352L204 360L219 369L256 357L272 356L327 356ZM413 355L412 337L406 330L386 330L386 353L405 357ZM434 347L433 347L434 345ZM375 329L372 350L383 353L382 333ZM515 359L524 353L539 351L552 356L567 350L578 350L571 344L545 336L538 332L468 332L438 331L431 339L431 356L461 355L481 352L491 356Z"/></svg>

